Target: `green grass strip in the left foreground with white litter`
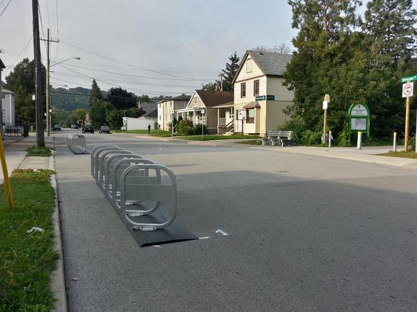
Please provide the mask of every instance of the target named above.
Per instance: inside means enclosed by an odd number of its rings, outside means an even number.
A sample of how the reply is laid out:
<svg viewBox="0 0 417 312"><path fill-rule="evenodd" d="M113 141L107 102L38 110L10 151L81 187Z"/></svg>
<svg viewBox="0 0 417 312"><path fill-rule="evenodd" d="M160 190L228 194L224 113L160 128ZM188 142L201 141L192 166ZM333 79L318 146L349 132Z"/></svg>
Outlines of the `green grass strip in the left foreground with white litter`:
<svg viewBox="0 0 417 312"><path fill-rule="evenodd" d="M55 299L49 289L58 254L54 250L53 171L15 170L10 184L15 211L0 186L0 311L47 312ZM32 227L43 232L26 233Z"/></svg>

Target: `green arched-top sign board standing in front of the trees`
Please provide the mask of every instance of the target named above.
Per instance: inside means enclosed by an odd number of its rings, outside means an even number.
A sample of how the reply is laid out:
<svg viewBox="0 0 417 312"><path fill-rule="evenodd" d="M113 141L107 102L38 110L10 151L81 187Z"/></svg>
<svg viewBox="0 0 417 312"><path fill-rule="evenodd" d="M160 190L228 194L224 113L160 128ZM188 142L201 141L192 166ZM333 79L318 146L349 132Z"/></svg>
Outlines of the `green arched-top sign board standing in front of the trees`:
<svg viewBox="0 0 417 312"><path fill-rule="evenodd" d="M362 148L362 134L366 133L369 137L370 130L370 111L365 103L352 104L347 112L349 115L349 141L352 133L357 133L357 149Z"/></svg>

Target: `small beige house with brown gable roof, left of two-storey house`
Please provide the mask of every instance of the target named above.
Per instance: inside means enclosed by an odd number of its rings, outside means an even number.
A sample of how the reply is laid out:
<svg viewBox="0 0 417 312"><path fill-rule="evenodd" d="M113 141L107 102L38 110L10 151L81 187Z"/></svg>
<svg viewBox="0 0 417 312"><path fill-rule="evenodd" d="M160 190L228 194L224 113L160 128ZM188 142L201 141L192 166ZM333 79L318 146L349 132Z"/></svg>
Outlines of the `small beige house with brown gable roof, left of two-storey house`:
<svg viewBox="0 0 417 312"><path fill-rule="evenodd" d="M203 123L210 134L218 133L218 105L233 104L233 92L195 90L186 108L177 110L177 119L190 119L194 125Z"/></svg>

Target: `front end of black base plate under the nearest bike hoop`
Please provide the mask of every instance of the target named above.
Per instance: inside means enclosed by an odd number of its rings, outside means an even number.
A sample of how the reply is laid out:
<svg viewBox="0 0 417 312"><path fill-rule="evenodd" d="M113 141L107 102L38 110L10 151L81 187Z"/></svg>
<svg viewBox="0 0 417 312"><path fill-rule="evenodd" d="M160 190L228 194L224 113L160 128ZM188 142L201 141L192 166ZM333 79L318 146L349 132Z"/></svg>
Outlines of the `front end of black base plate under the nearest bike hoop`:
<svg viewBox="0 0 417 312"><path fill-rule="evenodd" d="M124 225L129 229L129 232L133 236L133 239L140 245L140 247L162 245L167 243L176 243L179 241L191 241L198 239L193 233L181 225L181 223L173 222L165 229L155 229L154 231L141 231L140 229L133 229L132 225L121 216ZM167 220L167 217L161 211L155 211L150 216L131 217L136 222L147 222L147 223L162 223Z"/></svg>

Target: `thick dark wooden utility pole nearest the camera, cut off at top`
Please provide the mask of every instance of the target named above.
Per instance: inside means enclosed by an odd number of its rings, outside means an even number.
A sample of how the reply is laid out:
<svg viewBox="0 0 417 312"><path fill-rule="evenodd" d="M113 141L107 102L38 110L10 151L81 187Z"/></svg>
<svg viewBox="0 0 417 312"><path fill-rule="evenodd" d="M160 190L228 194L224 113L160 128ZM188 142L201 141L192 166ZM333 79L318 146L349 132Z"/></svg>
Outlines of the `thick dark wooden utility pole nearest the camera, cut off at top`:
<svg viewBox="0 0 417 312"><path fill-rule="evenodd" d="M43 101L42 101L42 64L40 62L40 38L38 0L32 0L33 15L33 55L35 56L35 122L36 122L36 146L45 146L43 125Z"/></svg>

